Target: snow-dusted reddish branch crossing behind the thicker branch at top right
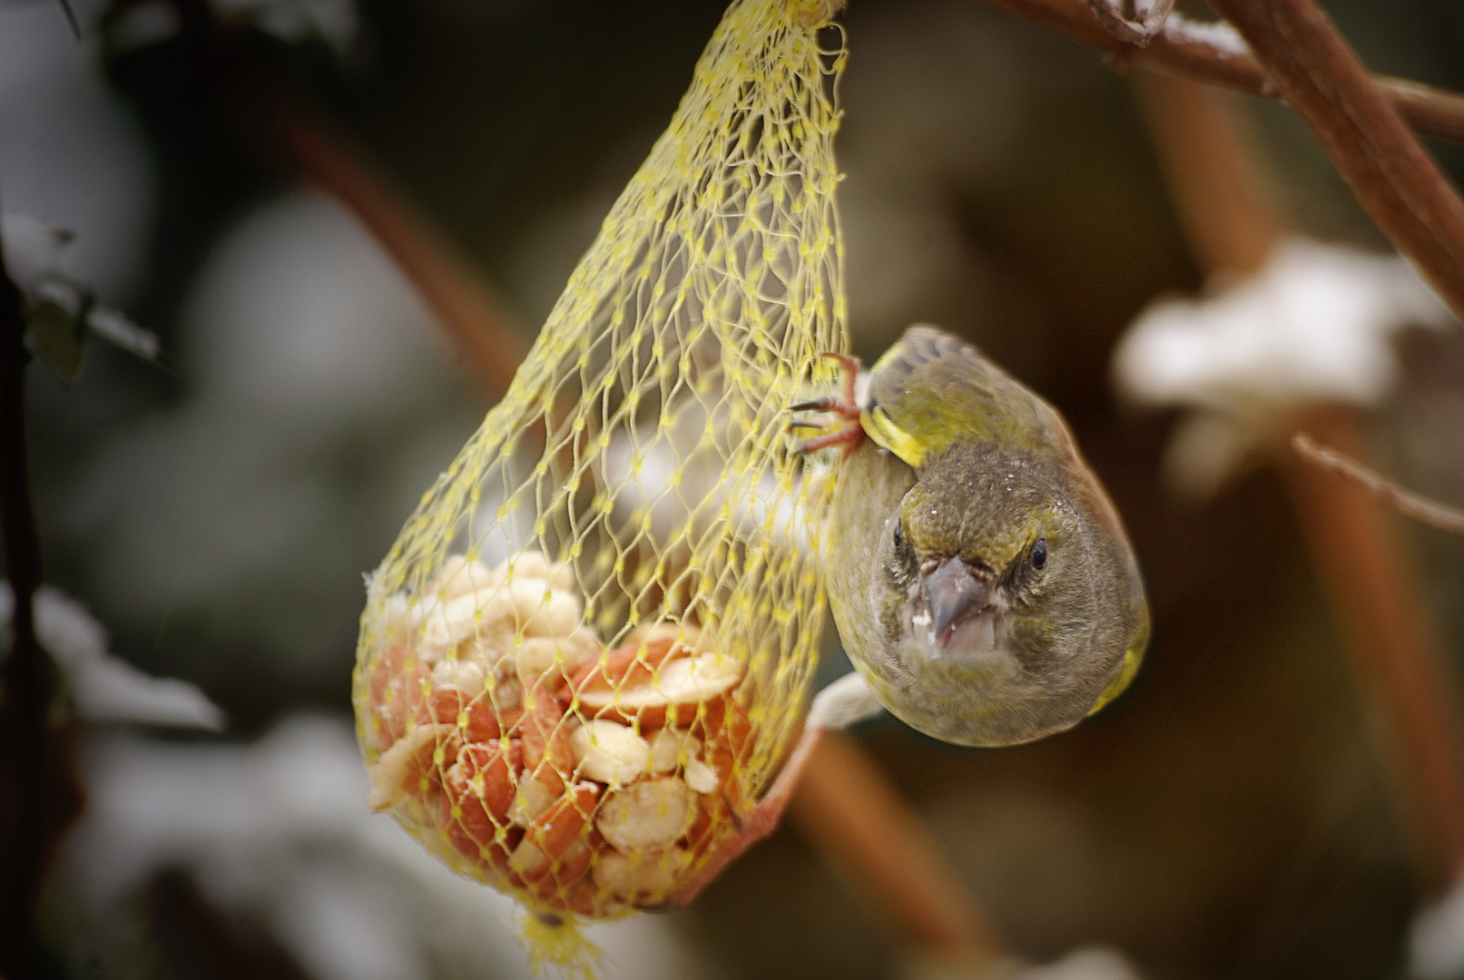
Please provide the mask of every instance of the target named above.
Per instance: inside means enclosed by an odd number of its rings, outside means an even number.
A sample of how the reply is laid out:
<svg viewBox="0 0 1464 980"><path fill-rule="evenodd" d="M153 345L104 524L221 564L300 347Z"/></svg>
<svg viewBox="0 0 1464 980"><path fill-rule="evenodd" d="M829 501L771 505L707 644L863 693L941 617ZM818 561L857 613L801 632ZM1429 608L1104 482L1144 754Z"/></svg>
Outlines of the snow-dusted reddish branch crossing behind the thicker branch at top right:
<svg viewBox="0 0 1464 980"><path fill-rule="evenodd" d="M987 3L1107 51L1120 64L1143 64L1165 75L1220 85L1246 95L1280 97L1280 89L1255 57L1206 42L1200 35L1184 31L1186 22L1174 16L1167 20L1167 29L1146 47L1139 47L1124 44L1105 31L1086 0L987 0ZM1419 133L1449 143L1464 143L1464 95L1385 75L1372 76L1372 82Z"/></svg>

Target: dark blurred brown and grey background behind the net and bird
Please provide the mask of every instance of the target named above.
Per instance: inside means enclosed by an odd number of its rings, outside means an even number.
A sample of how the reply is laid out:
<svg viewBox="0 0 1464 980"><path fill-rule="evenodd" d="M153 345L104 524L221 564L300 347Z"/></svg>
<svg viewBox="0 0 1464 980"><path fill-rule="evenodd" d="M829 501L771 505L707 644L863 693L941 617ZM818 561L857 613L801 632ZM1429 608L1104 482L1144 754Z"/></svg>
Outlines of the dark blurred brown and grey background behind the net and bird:
<svg viewBox="0 0 1464 980"><path fill-rule="evenodd" d="M42 566L79 603L59 622L95 620L111 655L225 717L211 734L85 727L88 807L42 908L50 976L527 973L507 900L366 816L348 702L362 575L498 392L281 149L285 111L394 183L523 347L722 6L72 0L73 31L56 0L0 0L0 208L69 231L69 274L161 341L155 363L91 342L69 382L29 370ZM1325 7L1373 70L1464 88L1457 0ZM1111 382L1126 328L1206 272L1132 78L978 0L852 0L843 23L855 351L938 323L1063 410L1154 611L1133 687L1070 733L969 750L884 718L858 740L1029 961L1108 946L1155 979L1407 976L1423 891L1284 480L1253 465L1176 493L1176 412ZM1224 101L1280 224L1388 250L1287 108ZM1464 154L1430 149L1464 177ZM1370 456L1464 502L1464 341L1394 345ZM1397 528L1458 670L1464 543ZM843 670L832 648L823 676ZM934 976L792 826L692 908L593 936L609 976Z"/></svg>

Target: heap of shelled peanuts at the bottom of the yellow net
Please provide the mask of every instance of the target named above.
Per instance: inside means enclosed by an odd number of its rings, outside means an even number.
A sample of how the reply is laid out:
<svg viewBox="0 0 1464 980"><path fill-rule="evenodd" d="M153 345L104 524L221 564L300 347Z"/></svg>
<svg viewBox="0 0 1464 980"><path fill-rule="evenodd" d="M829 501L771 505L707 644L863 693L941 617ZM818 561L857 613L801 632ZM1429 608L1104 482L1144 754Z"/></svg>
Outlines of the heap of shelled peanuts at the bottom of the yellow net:
<svg viewBox="0 0 1464 980"><path fill-rule="evenodd" d="M671 622L606 651L537 551L454 556L367 673L372 809L539 910L665 901L748 804L741 664Z"/></svg>

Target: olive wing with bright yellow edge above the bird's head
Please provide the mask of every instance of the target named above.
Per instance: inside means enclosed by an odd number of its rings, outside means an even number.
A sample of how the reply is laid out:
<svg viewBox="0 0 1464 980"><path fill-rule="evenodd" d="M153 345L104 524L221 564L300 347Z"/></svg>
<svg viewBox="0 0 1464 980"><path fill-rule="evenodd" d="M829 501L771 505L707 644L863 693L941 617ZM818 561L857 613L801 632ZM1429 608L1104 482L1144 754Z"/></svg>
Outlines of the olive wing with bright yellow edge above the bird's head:
<svg viewBox="0 0 1464 980"><path fill-rule="evenodd" d="M915 468L966 440L1038 449L1066 439L1047 402L971 344L924 325L874 364L859 421Z"/></svg>

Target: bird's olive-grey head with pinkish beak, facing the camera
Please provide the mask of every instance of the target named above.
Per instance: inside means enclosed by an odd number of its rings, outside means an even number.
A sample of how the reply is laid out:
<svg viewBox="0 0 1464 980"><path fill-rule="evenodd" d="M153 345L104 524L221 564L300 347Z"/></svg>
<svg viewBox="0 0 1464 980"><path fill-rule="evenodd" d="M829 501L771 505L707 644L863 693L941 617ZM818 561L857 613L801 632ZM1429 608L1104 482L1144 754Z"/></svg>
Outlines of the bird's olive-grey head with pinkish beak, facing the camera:
<svg viewBox="0 0 1464 980"><path fill-rule="evenodd" d="M963 730L956 740L1072 727L1133 676L1142 585L1092 487L1061 459L968 446L925 467L900 500L880 549L886 649L943 727Z"/></svg>

